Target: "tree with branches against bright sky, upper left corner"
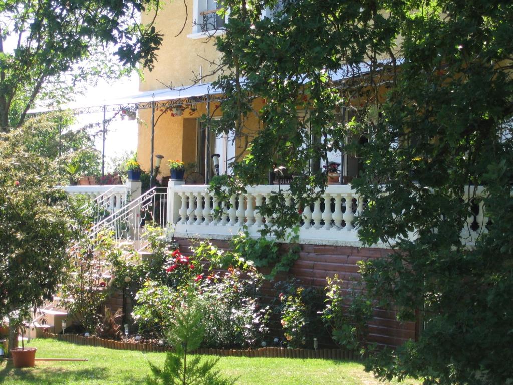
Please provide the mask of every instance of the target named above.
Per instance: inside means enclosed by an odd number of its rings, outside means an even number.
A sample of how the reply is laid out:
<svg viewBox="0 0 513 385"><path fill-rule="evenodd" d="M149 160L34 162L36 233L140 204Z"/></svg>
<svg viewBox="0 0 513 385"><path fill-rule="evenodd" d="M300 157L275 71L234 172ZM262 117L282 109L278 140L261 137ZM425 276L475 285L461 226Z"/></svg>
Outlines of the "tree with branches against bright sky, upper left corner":
<svg viewBox="0 0 513 385"><path fill-rule="evenodd" d="M38 95L65 99L75 81L115 71L105 58L114 46L125 65L150 69L162 35L140 12L159 0L0 3L0 131L23 124Z"/></svg>

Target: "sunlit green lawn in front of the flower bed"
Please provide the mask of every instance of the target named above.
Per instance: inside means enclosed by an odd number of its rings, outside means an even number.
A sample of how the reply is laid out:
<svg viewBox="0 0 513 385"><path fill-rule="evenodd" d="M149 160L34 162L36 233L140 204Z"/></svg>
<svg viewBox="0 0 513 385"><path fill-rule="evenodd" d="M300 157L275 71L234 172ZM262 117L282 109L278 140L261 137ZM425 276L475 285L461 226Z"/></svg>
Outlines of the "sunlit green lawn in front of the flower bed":
<svg viewBox="0 0 513 385"><path fill-rule="evenodd" d="M164 353L142 353L78 346L46 339L31 341L36 358L87 358L87 362L36 361L31 369L14 369L0 363L5 385L141 385L149 372L148 361L162 364ZM378 385L363 365L351 361L317 359L223 357L217 368L238 377L239 385ZM406 381L406 385L420 382Z"/></svg>

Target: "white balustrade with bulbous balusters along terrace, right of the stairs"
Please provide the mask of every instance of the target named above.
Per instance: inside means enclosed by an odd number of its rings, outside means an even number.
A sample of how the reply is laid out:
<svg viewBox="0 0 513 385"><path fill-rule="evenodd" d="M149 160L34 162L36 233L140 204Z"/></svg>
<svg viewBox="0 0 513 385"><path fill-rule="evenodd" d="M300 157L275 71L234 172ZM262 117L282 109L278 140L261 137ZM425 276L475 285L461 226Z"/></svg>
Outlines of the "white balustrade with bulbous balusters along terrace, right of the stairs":
<svg viewBox="0 0 513 385"><path fill-rule="evenodd" d="M205 185L184 185L183 182L171 181L168 187L167 220L169 236L187 238L230 239L247 226L252 236L258 236L259 230L272 224L272 216L260 213L258 207L265 203L278 186L252 186L246 188L242 195L232 195L229 202L220 203ZM291 196L285 194L285 204L292 206ZM462 230L462 242L473 245L479 235L487 231L490 224L484 215L483 202L479 197L483 188L467 191L468 197L475 197L475 205L470 205L467 225ZM301 210L302 220L299 226L299 243L333 244L361 246L358 229L354 219L366 206L366 199L349 185L329 185L320 199ZM216 215L221 210L221 215ZM416 237L415 232L409 234ZM378 247L387 247L377 244Z"/></svg>

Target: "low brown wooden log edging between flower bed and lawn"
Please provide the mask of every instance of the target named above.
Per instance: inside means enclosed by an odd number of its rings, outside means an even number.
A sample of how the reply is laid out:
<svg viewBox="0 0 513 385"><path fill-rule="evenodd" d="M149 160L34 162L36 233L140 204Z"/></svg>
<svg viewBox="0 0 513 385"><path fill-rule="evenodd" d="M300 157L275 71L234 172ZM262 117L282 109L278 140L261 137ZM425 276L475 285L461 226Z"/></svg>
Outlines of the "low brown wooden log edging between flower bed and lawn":
<svg viewBox="0 0 513 385"><path fill-rule="evenodd" d="M114 350L132 350L140 352L167 352L169 347L155 346L151 343L134 343L114 341L110 339L98 338L96 336L83 337L77 334L52 334L43 331L43 338L51 338L58 341L75 343L77 345L87 345ZM268 357L268 358L312 358L327 360L356 360L360 361L362 357L352 351L342 349L285 349L285 348L259 348L259 349L198 349L192 354L204 354L220 357Z"/></svg>

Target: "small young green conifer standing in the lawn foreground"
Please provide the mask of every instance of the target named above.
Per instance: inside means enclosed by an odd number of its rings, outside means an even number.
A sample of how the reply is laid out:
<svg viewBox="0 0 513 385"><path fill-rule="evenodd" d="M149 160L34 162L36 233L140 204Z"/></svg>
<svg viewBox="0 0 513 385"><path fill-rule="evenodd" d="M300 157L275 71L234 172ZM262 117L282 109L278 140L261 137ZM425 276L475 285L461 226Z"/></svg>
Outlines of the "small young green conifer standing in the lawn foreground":
<svg viewBox="0 0 513 385"><path fill-rule="evenodd" d="M198 349L205 335L203 314L192 289L184 292L184 301L176 310L175 319L169 333L169 341L174 351L167 352L163 368L150 363L151 375L147 385L233 385L234 379L221 377L214 370L218 359L202 360L200 356L190 356Z"/></svg>

